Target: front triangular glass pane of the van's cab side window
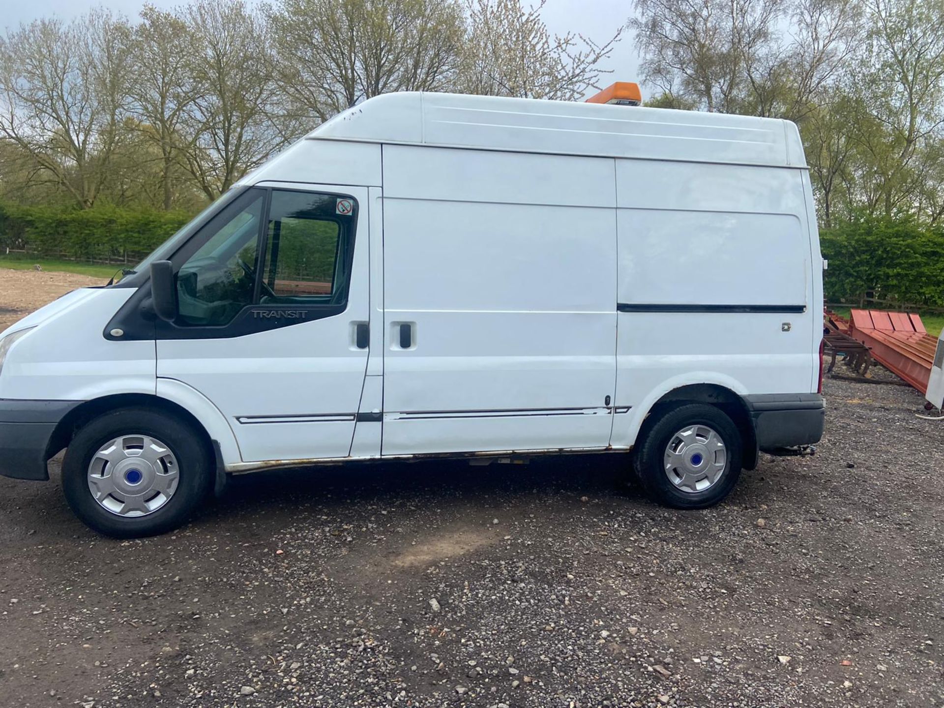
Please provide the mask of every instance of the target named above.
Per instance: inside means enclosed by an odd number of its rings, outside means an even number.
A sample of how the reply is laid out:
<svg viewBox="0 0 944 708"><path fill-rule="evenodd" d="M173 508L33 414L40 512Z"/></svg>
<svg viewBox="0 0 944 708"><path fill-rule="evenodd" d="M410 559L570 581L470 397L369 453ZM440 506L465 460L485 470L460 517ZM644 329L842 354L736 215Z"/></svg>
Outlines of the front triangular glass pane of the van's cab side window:
<svg viewBox="0 0 944 708"><path fill-rule="evenodd" d="M255 295L265 193L250 190L201 230L211 234L177 272L177 322L227 325Z"/></svg>

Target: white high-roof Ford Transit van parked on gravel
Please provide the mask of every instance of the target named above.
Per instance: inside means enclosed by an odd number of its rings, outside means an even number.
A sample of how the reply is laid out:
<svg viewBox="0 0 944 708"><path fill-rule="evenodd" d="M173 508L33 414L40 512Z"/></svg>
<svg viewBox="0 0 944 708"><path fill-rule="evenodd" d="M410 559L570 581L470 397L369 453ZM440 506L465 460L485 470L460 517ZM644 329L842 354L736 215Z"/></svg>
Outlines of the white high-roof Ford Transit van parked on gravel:
<svg viewBox="0 0 944 708"><path fill-rule="evenodd" d="M114 536L231 474L630 452L679 508L819 440L822 284L780 120L370 99L131 274L0 340L0 473ZM631 462L632 460L632 462Z"/></svg>

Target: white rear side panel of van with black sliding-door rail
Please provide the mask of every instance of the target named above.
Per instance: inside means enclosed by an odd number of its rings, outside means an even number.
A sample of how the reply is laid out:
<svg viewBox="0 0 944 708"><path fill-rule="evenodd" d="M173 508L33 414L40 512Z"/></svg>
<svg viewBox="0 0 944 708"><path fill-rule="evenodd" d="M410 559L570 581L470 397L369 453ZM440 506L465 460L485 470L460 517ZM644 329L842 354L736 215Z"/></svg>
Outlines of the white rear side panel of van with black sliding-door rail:
<svg viewBox="0 0 944 708"><path fill-rule="evenodd" d="M632 445L652 404L683 385L810 392L821 295L802 177L616 160L615 400L632 408L616 417L615 446Z"/></svg>

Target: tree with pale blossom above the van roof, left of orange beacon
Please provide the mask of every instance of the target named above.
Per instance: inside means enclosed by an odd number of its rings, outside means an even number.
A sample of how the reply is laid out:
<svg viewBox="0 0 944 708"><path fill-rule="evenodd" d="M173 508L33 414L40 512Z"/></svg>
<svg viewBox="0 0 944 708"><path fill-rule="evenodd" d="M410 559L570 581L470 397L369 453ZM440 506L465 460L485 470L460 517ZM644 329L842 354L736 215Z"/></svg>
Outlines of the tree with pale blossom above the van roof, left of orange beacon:
<svg viewBox="0 0 944 708"><path fill-rule="evenodd" d="M582 34L552 35L541 19L547 0L466 0L466 37L458 90L573 101L599 88L600 68L623 29L598 44Z"/></svg>

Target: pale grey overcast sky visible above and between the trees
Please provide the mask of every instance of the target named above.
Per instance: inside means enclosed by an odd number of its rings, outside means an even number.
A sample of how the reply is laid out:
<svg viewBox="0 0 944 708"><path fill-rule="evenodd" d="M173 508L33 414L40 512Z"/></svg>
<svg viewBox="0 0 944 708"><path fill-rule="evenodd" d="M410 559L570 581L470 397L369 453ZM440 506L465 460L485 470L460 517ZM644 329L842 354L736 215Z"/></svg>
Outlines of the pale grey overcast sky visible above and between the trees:
<svg viewBox="0 0 944 708"><path fill-rule="evenodd" d="M173 8L186 4L181 0L151 0L159 8ZM528 4L526 0L525 4ZM16 27L23 22L36 20L49 15L63 18L94 7L103 5L122 12L129 17L137 15L143 7L143 0L102 0L100 3L84 3L80 0L4 0L4 10L0 14L0 25ZM613 36L616 28L626 22L630 14L631 3L628 0L548 0L544 8L544 19L548 29L557 34L567 31L580 32L595 42L605 42ZM632 36L624 34L622 42L616 45L613 55L605 64L613 74L601 79L606 86L613 81L635 81L638 59L632 46Z"/></svg>

